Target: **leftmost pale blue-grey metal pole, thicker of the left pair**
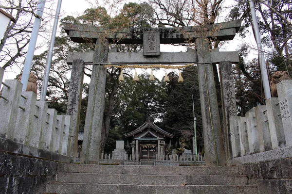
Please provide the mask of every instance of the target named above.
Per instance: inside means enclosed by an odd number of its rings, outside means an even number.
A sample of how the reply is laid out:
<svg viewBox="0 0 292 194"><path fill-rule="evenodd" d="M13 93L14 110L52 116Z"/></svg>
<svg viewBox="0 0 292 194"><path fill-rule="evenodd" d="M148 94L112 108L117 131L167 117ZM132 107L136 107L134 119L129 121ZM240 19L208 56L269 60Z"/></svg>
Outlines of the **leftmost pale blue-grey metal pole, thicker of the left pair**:
<svg viewBox="0 0 292 194"><path fill-rule="evenodd" d="M38 5L37 5L37 16L35 18L34 22L34 27L32 31L32 36L29 41L28 45L28 50L24 62L24 67L23 67L23 72L22 72L22 77L21 77L21 83L22 85L22 91L26 91L27 88L27 82L28 82L28 77L30 74L32 62L33 62L33 57L34 57L34 52L36 49L36 44L37 44L37 35L40 27L40 22L41 22L41 17L44 11L46 0L39 0Z"/></svg>

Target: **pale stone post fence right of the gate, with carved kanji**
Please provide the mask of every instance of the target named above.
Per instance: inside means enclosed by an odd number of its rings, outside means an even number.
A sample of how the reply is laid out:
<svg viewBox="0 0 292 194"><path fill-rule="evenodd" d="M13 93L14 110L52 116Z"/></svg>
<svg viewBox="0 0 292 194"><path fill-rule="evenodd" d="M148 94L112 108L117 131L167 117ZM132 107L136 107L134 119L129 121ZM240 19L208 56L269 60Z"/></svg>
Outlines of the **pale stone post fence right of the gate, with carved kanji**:
<svg viewBox="0 0 292 194"><path fill-rule="evenodd" d="M292 80L278 83L277 91L265 106L230 117L232 164L292 157Z"/></svg>

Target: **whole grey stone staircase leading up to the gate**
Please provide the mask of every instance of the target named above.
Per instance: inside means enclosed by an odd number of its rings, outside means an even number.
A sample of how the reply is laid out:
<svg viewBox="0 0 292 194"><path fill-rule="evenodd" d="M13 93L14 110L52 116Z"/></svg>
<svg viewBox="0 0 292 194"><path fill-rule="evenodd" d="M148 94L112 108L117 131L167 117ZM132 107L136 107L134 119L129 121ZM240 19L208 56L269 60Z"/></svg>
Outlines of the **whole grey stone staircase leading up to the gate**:
<svg viewBox="0 0 292 194"><path fill-rule="evenodd" d="M56 194L257 194L248 178L232 167L65 164Z"/></svg>

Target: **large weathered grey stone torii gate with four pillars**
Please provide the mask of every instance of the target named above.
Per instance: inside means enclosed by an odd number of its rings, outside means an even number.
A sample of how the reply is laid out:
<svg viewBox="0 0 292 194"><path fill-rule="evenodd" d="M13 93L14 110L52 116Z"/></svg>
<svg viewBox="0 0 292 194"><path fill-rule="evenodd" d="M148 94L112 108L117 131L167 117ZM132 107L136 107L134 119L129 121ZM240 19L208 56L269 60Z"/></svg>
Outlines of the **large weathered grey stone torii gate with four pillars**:
<svg viewBox="0 0 292 194"><path fill-rule="evenodd" d="M103 36L104 29L63 23L71 40L77 43L95 43L94 52L69 53L72 75L67 114L73 117L72 150L76 158L84 65L91 64L92 74L88 108L84 128L81 163L98 163L105 103L106 69L103 64L185 64L198 63L201 113L204 134L205 160L209 165L226 165L230 155L237 155L238 145L229 149L229 139L239 139L238 131L230 131L229 118L236 116L232 63L238 63L238 53L209 49L210 39L232 40L241 20L183 28L125 28ZM196 43L187 52L160 52L160 44ZM108 44L144 44L144 52L117 52ZM212 64L219 64L224 129L221 129ZM240 146L240 145L239 145Z"/></svg>

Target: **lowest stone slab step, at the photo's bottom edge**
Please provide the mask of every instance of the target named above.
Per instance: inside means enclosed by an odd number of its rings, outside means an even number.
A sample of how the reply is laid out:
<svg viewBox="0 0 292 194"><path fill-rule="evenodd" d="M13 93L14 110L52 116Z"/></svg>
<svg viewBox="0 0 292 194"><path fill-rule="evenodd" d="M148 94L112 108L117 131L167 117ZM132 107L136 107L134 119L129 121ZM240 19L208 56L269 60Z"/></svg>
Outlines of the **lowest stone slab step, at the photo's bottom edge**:
<svg viewBox="0 0 292 194"><path fill-rule="evenodd" d="M57 194L258 194L256 186L149 186L50 183Z"/></svg>

